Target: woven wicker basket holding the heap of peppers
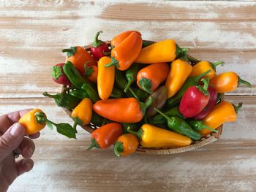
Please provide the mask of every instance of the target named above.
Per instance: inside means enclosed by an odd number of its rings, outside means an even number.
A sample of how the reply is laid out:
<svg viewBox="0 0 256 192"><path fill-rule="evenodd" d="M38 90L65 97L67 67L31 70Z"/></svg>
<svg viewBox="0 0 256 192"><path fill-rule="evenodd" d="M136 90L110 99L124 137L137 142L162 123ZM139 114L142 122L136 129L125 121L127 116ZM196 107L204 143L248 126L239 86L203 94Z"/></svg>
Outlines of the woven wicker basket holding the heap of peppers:
<svg viewBox="0 0 256 192"><path fill-rule="evenodd" d="M109 44L109 42L107 42L107 43ZM90 52L90 47L91 47L91 45L86 45L84 48L88 52ZM64 85L61 85L61 93L64 93L66 91L65 88L66 87ZM224 94L222 94L222 100L223 99L224 99ZM62 109L71 118L71 111L67 110L64 107L62 107ZM89 124L89 125L83 126L82 128L84 130L88 131L89 133L91 133L97 127L95 127L93 124ZM184 153L184 152L187 152L189 150L195 150L199 147L203 147L205 145L208 145L211 142L217 141L219 139L220 135L222 134L222 126L219 126L219 128L217 128L217 130L218 130L218 133L211 133L206 137L202 137L202 139L200 139L200 141L197 141L197 142L193 143L192 145L189 145L189 146L186 146L186 147L145 148L145 147L139 146L135 152L136 153L150 154L150 155L168 155L168 154Z"/></svg>

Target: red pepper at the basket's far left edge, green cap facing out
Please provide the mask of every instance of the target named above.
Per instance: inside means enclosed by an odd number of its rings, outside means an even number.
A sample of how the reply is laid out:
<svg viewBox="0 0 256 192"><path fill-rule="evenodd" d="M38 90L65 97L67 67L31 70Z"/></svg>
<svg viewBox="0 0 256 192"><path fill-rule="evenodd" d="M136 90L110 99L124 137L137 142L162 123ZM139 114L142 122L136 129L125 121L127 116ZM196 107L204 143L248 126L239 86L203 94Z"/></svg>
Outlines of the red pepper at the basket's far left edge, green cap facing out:
<svg viewBox="0 0 256 192"><path fill-rule="evenodd" d="M51 76L53 80L61 85L72 85L67 75L63 71L64 63L56 64L52 67Z"/></svg>

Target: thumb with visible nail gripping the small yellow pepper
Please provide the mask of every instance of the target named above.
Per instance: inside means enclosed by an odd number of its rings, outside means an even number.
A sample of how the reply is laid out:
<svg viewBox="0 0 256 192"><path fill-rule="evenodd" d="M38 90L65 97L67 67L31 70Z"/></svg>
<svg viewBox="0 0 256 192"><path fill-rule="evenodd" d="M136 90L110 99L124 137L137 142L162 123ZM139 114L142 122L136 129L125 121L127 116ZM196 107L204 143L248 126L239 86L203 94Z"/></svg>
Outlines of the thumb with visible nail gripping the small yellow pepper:
<svg viewBox="0 0 256 192"><path fill-rule="evenodd" d="M25 128L15 123L0 137L0 162L20 145L24 136Z"/></svg>

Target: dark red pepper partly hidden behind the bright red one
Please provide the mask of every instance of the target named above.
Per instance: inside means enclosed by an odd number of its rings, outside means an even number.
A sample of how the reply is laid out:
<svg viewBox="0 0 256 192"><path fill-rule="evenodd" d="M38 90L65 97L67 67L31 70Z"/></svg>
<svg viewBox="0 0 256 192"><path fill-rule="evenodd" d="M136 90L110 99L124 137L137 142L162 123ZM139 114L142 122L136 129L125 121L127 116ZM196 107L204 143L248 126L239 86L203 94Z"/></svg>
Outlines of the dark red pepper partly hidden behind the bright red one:
<svg viewBox="0 0 256 192"><path fill-rule="evenodd" d="M208 101L208 104L203 109L203 111L201 111L200 113L195 115L195 117L193 117L196 120L201 120L205 118L209 114L209 112L211 112L212 108L214 108L214 105L216 104L217 96L218 96L217 91L215 90L215 88L208 86L208 92L209 92L210 100Z"/></svg>

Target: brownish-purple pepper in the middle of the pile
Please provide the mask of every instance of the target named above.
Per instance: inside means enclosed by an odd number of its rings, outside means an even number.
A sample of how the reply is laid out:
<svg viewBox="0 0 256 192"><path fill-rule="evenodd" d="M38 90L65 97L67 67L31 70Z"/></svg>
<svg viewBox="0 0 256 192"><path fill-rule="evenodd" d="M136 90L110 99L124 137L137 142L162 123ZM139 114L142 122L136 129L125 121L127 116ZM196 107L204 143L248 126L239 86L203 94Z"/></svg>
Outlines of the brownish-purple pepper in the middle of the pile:
<svg viewBox="0 0 256 192"><path fill-rule="evenodd" d="M167 88L165 86L161 86L157 88L157 90L154 91L151 96L153 101L151 106L149 106L146 110L147 117L151 117L157 114L157 112L154 110L154 107L156 107L157 109L161 109L162 107L164 107L167 99Z"/></svg>

